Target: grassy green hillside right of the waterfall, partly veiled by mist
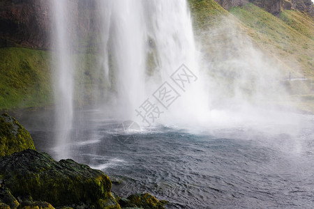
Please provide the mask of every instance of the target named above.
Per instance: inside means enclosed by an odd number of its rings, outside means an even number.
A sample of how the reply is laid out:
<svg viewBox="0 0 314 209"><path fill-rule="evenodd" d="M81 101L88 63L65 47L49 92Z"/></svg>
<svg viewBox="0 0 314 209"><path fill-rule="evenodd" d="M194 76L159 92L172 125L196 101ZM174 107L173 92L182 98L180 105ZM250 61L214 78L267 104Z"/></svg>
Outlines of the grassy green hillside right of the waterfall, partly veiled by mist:
<svg viewBox="0 0 314 209"><path fill-rule="evenodd" d="M287 77L288 72L292 72L292 77L313 79L314 23L308 15L297 10L285 10L278 17L275 17L252 3L232 8L230 13L227 13L212 0L190 0L189 3L196 35L200 35L197 38L202 39L203 52L209 55L205 56L207 59L213 61L213 55L223 51L223 48L218 48L217 51L213 44L215 45L215 42L228 42L232 32L234 32L230 29L233 28L238 31L238 35L240 33L240 36L241 33L250 36L255 47L262 49L264 54L269 56L269 59L273 59L274 63L281 66L283 77ZM225 26L221 27L221 25ZM232 25L231 28L230 25ZM218 34L204 35L202 33L204 30L209 33L218 31ZM220 75L215 73L214 76L219 77ZM290 92L291 100L295 106L314 113L313 80L285 82L285 86Z"/></svg>

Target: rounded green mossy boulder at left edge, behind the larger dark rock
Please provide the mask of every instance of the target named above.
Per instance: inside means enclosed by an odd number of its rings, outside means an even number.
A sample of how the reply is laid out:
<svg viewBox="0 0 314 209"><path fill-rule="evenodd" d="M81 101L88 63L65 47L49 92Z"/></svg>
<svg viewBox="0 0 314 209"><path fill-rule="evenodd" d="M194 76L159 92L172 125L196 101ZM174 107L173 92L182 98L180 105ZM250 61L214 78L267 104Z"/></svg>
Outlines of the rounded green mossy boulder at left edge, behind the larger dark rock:
<svg viewBox="0 0 314 209"><path fill-rule="evenodd" d="M35 150L33 139L15 118L4 113L0 116L0 157L26 149Z"/></svg>

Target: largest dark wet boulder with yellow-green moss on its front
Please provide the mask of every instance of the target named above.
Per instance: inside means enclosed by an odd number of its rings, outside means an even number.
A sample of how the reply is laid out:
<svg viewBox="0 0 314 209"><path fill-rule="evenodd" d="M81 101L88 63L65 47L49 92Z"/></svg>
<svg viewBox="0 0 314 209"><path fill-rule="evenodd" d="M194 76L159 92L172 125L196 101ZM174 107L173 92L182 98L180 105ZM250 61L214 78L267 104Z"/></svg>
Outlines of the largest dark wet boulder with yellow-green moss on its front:
<svg viewBox="0 0 314 209"><path fill-rule="evenodd" d="M0 176L14 196L31 196L54 207L120 208L105 173L73 160L57 162L36 150L0 157Z"/></svg>

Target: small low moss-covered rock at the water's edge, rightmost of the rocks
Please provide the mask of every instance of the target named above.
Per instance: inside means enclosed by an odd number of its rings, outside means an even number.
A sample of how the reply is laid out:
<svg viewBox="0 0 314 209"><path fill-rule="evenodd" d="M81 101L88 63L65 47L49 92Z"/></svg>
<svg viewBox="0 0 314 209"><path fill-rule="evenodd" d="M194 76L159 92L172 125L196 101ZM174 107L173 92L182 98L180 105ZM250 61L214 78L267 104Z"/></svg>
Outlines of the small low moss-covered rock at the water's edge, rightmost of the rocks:
<svg viewBox="0 0 314 209"><path fill-rule="evenodd" d="M131 194L128 196L128 204L126 207L142 207L144 209L163 209L163 203L158 201L156 197L149 193Z"/></svg>

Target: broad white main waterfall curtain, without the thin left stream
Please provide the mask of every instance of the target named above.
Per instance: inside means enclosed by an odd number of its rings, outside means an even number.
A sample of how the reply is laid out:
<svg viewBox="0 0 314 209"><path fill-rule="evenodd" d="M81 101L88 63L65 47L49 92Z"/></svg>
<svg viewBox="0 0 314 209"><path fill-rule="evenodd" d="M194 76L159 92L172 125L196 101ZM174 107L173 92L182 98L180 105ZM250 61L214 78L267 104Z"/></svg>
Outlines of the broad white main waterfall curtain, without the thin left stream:
<svg viewBox="0 0 314 209"><path fill-rule="evenodd" d="M196 78L200 75L187 2L101 1L99 6L103 8L100 16L103 18L104 63L108 63L106 56L111 54L115 66L116 116L141 121L135 109L170 79L179 66L185 65ZM181 111L185 111L186 119L190 120L188 117L196 115L194 104L206 105L202 101L206 97L200 96L204 93L200 91L202 82L199 79L197 83L185 92L172 82L180 98L160 121L173 117L181 121ZM151 100L155 105L162 105L156 98ZM161 107L160 111L163 111Z"/></svg>

